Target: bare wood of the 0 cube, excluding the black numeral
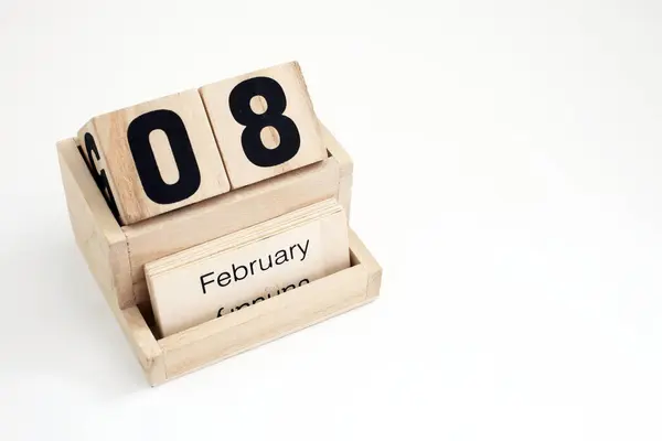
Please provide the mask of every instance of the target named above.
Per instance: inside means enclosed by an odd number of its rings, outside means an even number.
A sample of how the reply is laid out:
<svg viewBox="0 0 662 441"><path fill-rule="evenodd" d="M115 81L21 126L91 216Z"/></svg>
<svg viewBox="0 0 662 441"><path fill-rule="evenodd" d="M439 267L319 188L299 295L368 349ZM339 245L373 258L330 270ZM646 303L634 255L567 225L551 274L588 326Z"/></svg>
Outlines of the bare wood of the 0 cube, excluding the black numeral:
<svg viewBox="0 0 662 441"><path fill-rule="evenodd" d="M154 110L169 110L181 118L200 170L197 190L177 203L157 203L147 195L129 148L127 132L131 122ZM87 143L85 151L89 149L89 143L96 143L99 158L95 161L106 172L119 217L126 225L229 191L229 182L214 135L202 99L195 89L97 116L81 129L78 139ZM181 180L181 170L178 171L164 132L153 130L149 140L162 180L169 185Z"/></svg>

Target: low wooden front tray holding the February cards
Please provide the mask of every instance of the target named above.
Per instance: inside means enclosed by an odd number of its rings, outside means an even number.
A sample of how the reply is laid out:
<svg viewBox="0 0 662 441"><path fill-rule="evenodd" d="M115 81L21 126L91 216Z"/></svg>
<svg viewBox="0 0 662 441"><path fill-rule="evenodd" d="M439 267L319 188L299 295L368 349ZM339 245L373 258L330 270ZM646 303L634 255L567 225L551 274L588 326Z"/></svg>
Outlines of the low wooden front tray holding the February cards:
<svg viewBox="0 0 662 441"><path fill-rule="evenodd" d="M354 233L350 250L351 268L166 338L138 306L114 312L156 386L374 300L382 269Z"/></svg>

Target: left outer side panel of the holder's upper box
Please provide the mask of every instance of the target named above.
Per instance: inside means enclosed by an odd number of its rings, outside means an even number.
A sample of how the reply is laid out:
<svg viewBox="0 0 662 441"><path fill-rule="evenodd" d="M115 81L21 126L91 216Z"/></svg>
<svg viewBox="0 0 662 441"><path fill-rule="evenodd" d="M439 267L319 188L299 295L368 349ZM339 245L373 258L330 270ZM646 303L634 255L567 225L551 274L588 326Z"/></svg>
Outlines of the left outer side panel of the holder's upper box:
<svg viewBox="0 0 662 441"><path fill-rule="evenodd" d="M70 220L78 248L109 304L134 303L127 240L110 213L75 139L57 143Z"/></svg>

